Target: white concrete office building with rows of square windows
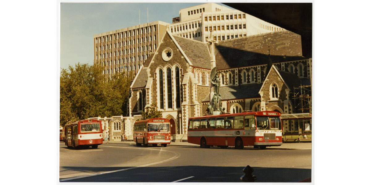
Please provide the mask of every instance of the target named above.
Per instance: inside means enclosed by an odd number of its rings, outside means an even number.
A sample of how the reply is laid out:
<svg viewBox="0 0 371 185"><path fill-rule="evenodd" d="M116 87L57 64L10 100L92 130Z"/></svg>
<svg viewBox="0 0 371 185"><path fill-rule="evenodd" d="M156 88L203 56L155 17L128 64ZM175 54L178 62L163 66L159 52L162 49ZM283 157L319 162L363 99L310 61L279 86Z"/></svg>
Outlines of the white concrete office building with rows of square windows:
<svg viewBox="0 0 371 185"><path fill-rule="evenodd" d="M228 40L285 30L239 10L216 3L206 3L179 11L179 17L168 26L173 35L205 42L210 31L214 40Z"/></svg>

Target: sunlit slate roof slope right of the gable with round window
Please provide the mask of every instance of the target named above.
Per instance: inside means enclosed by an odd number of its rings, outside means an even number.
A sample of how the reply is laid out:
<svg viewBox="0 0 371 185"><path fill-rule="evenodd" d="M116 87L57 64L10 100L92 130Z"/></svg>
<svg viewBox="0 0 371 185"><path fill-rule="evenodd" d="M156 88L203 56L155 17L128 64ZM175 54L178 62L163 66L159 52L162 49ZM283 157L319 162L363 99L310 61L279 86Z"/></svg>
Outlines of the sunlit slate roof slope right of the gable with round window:
<svg viewBox="0 0 371 185"><path fill-rule="evenodd" d="M206 43L173 35L194 67L210 69L210 53Z"/></svg>

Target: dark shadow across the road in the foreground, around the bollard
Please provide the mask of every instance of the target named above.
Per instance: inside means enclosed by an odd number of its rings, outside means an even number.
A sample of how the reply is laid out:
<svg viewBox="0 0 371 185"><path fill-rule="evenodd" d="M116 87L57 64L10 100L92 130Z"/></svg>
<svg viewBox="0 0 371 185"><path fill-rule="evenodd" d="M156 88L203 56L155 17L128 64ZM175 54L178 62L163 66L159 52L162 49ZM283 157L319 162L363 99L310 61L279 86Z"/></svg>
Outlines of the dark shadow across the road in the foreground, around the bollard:
<svg viewBox="0 0 371 185"><path fill-rule="evenodd" d="M245 166L141 167L63 182L174 182L190 176L194 177L185 179L181 182L242 182L240 177L244 174L242 171L244 167ZM254 169L252 174L257 177L255 182L299 182L303 179L310 178L312 175L311 169L251 167ZM62 171L73 170L79 172L99 173L131 167L61 166L61 168Z"/></svg>

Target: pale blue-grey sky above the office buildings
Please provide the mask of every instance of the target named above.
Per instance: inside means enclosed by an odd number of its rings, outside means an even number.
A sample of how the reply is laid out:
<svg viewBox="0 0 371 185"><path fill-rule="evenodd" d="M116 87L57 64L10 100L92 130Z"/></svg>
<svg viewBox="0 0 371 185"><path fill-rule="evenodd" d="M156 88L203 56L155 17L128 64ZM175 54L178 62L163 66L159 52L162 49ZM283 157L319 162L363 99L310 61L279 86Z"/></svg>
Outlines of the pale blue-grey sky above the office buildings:
<svg viewBox="0 0 371 185"><path fill-rule="evenodd" d="M179 17L180 9L206 3L200 2L61 3L60 68L67 69L69 65L74 66L76 63L93 64L93 36L147 23L147 8L148 22L159 20L172 23L174 17Z"/></svg>

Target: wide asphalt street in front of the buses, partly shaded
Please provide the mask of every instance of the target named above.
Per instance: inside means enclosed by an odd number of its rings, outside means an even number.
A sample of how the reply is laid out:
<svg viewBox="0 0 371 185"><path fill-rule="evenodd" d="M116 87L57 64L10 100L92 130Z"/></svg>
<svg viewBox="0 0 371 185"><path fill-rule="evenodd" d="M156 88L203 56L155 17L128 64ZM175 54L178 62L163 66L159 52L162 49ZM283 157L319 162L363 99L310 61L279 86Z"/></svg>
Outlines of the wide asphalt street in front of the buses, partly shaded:
<svg viewBox="0 0 371 185"><path fill-rule="evenodd" d="M75 150L60 142L59 178L60 182L242 182L242 169L250 165L255 182L298 182L311 177L311 152L116 143Z"/></svg>

